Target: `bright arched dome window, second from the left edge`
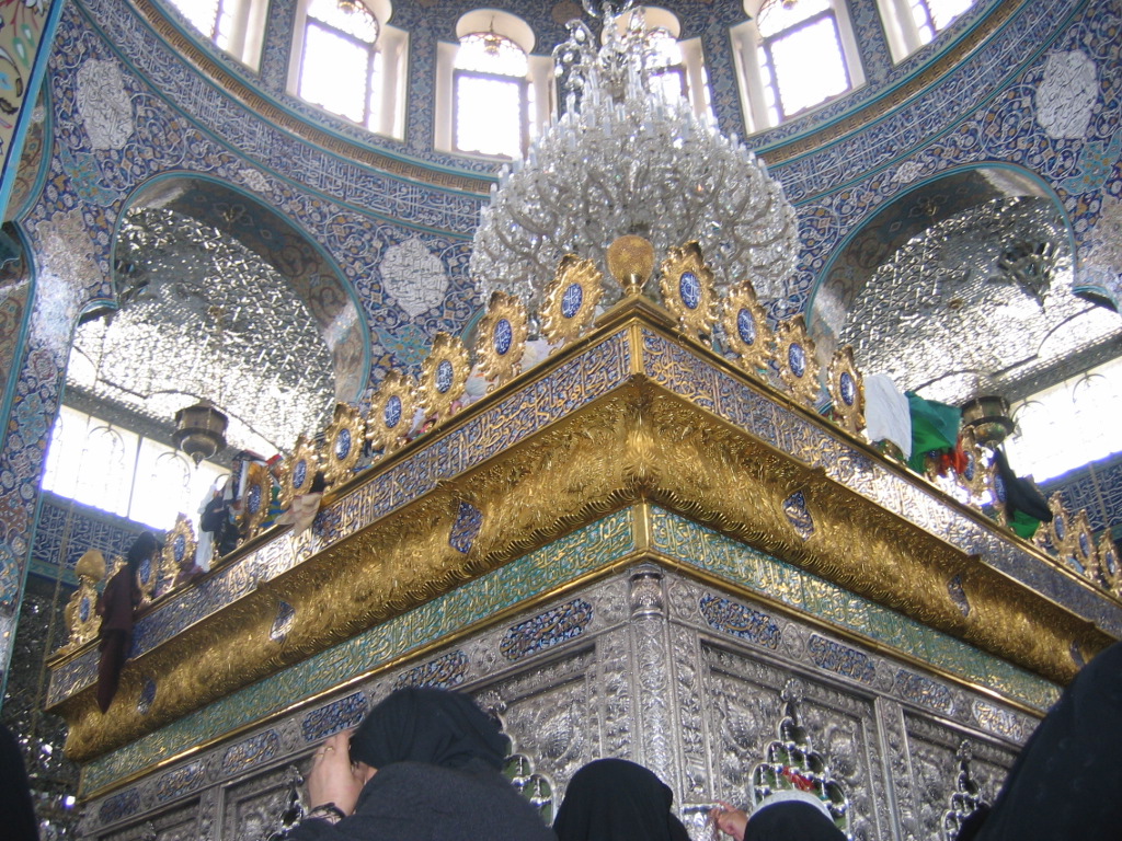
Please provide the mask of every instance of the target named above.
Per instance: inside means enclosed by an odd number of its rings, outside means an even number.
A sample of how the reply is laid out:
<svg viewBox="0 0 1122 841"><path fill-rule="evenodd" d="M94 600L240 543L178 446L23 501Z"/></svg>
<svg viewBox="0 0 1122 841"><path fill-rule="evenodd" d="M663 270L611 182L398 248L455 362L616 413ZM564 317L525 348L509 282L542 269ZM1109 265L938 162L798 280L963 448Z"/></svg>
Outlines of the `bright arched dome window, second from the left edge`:
<svg viewBox="0 0 1122 841"><path fill-rule="evenodd" d="M401 138L407 37L386 0L303 0L289 90L381 135Z"/></svg>

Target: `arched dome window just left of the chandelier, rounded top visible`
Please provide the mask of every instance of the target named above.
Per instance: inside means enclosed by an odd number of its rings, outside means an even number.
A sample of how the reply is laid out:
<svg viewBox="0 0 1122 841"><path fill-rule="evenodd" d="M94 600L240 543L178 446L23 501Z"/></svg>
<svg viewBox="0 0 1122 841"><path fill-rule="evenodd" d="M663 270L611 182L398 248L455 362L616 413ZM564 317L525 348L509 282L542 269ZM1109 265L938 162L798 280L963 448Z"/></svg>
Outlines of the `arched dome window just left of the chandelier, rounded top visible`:
<svg viewBox="0 0 1122 841"><path fill-rule="evenodd" d="M469 12L456 33L438 53L436 148L521 158L553 111L552 61L531 54L533 30L507 12Z"/></svg>

